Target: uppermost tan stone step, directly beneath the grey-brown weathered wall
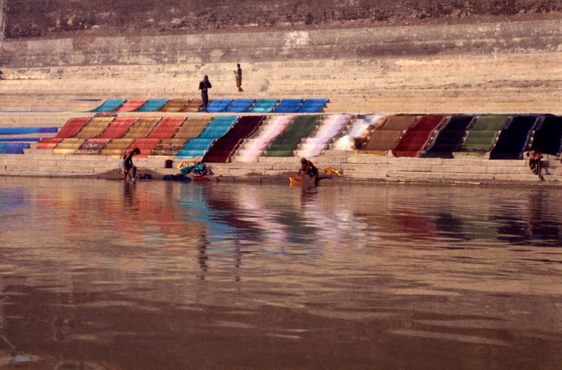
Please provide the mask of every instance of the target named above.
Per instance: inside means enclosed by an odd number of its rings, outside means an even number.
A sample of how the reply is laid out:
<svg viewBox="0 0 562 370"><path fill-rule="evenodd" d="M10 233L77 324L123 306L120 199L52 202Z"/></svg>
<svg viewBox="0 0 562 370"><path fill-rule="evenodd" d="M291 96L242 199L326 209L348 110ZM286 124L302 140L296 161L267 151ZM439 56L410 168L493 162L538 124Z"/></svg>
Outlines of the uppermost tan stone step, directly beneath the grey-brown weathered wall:
<svg viewBox="0 0 562 370"><path fill-rule="evenodd" d="M302 70L338 70L348 72L364 69L374 70L374 67L385 68L385 72L430 70L433 72L447 73L458 70L483 73L501 70L505 67L515 66L529 69L545 70L546 68L560 67L558 53L541 53L540 58L524 53L478 55L477 58L459 58L457 55L439 55L438 58L385 58L384 60L373 59L338 59L338 60L290 60L242 63L245 74L264 73L272 71L295 74ZM199 76L202 73L232 74L234 69L232 63L208 63L207 65L136 65L133 68L126 65L109 65L93 67L56 67L56 68L29 68L29 69L6 69L3 70L4 78L27 78L42 79L50 77L53 79L64 79L79 76L89 79L103 77L115 77L115 75L130 74L131 76L145 76L147 74L162 74L169 76ZM4 72L5 71L5 72ZM333 76L333 74L332 74Z"/></svg>

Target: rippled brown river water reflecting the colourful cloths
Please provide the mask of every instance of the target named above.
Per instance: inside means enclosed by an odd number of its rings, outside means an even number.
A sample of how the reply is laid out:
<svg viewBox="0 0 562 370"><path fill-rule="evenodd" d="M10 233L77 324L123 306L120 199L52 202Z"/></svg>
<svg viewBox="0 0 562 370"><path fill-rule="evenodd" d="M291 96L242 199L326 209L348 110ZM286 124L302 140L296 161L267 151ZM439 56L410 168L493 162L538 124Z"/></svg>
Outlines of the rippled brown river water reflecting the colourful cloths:
<svg viewBox="0 0 562 370"><path fill-rule="evenodd" d="M558 187L0 178L0 350L560 370L561 214Z"/></svg>

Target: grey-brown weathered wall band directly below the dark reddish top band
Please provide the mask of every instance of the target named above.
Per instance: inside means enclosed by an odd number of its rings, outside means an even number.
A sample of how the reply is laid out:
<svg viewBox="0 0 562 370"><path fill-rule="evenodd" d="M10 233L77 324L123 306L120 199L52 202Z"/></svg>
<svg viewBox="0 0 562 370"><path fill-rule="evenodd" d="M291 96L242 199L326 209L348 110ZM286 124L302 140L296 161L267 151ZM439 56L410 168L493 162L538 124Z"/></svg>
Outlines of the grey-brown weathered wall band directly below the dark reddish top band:
<svg viewBox="0 0 562 370"><path fill-rule="evenodd" d="M169 65L562 51L562 20L5 41L0 66ZM334 71L336 72L336 71Z"/></svg>

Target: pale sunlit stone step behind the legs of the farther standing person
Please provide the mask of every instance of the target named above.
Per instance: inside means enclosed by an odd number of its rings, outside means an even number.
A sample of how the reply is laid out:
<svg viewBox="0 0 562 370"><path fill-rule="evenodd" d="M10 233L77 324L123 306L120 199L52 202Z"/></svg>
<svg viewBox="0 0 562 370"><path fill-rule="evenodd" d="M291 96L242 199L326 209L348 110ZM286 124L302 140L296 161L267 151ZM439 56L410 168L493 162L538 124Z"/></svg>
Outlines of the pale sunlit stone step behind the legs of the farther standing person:
<svg viewBox="0 0 562 370"><path fill-rule="evenodd" d="M476 63L477 64L477 63ZM407 70L403 66L396 66L394 69L384 70L384 72L374 71L372 67L360 67L353 71L345 72L341 70L334 70L333 68L325 69L305 69L296 68L295 70L282 70L272 71L263 70L260 73L246 73L242 86L245 88L253 88L253 86L272 86L273 88L280 86L293 86L294 81L299 81L301 86L308 86L309 84L319 84L338 88L339 90L362 90L367 87L371 88L388 88L388 87L401 87L404 86L404 81L407 81L407 86L410 87L440 87L448 86L450 84L462 84L463 86L478 86L478 84L485 84L492 86L495 82L501 82L504 85L508 83L516 84L525 81L545 81L548 76L549 84L560 84L562 78L562 67L550 68L536 68L533 66L525 65L506 65L504 69L489 70L488 66L479 67L478 73L467 72L466 70L440 70L437 72L429 65L422 65L417 70ZM429 68L425 70L425 68ZM279 73L281 72L281 73ZM216 71L207 72L209 78L216 86L233 86L232 72ZM119 74L112 74L111 76L98 76L96 79L89 79L81 77L77 74L68 75L65 79L58 77L44 77L41 79L6 79L3 84L11 86L12 89L25 90L31 86L41 88L60 88L70 89L71 91L77 90L80 86L88 88L88 91L98 91L100 88L111 87L117 88L124 83L134 88L142 88L143 86L151 86L157 88L164 86L173 88L178 86L187 90L189 86L197 88L197 84L202 78L201 75L185 75L172 76L169 74L150 74L146 72L131 72L124 71ZM25 81L25 84L18 83L18 81ZM76 82L76 84L73 84ZM264 85L265 84L265 85ZM508 85L509 86L509 85Z"/></svg>

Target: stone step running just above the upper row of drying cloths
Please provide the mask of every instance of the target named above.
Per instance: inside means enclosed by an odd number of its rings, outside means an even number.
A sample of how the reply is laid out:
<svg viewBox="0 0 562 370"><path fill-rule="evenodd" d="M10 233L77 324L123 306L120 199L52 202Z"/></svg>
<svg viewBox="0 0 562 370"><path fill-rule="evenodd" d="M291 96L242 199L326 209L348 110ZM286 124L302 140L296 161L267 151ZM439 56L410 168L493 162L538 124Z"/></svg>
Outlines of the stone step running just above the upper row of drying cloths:
<svg viewBox="0 0 562 370"><path fill-rule="evenodd" d="M78 84L79 81L74 81L74 85ZM29 88L30 86L26 86ZM31 86L33 87L33 86ZM288 87L288 86L287 86ZM562 93L553 88L542 89L533 88L530 89L518 89L518 88L504 88L503 86L496 86L487 89L478 88L414 88L409 86L401 86L400 88L374 88L374 86L369 86L364 90L354 89L353 91L342 91L339 88L325 89L322 85L312 85L303 86L299 88L299 91L294 90L294 86L291 91L285 91L285 88L281 91L277 91L275 86L271 86L266 91L251 91L248 88L244 92L240 93L235 91L235 88L229 86L217 86L216 89L209 91L209 97L212 98L214 95L230 95L231 98L237 97L256 97L256 98L306 98L307 93L316 92L318 95L322 93L324 98L329 98L331 103L336 101L346 102L346 103L364 103L372 101L373 99L385 99L388 102L396 102L405 99L419 98L420 95L424 96L424 100L434 101L436 103L445 103L449 100L457 101L473 101L474 97L477 98L477 102L488 100L488 98L495 98L498 101L504 102L514 102L514 103L525 103L529 102L531 98L540 96L542 101L549 103L558 103L562 98ZM159 93L157 96L154 93L154 88L152 86L144 86L140 88L129 88L126 86L124 88L116 88L115 90L108 91L107 93L100 91L89 91L84 93L83 90L77 89L77 91L67 91L58 88L48 88L48 89L35 89L29 88L24 91L11 91L11 93L1 94L2 105L20 106L20 107L48 107L49 105L65 106L70 105L73 107L96 107L103 103L104 100L110 98L200 98L200 94L197 93L196 88L185 88L182 87L178 89L178 93L173 91L170 93L162 94L162 88L159 88ZM400 95L397 94L397 90ZM478 98L478 96L480 98ZM334 99L338 100L334 100ZM83 99L83 100L81 100ZM97 100L97 101L92 101Z"/></svg>

